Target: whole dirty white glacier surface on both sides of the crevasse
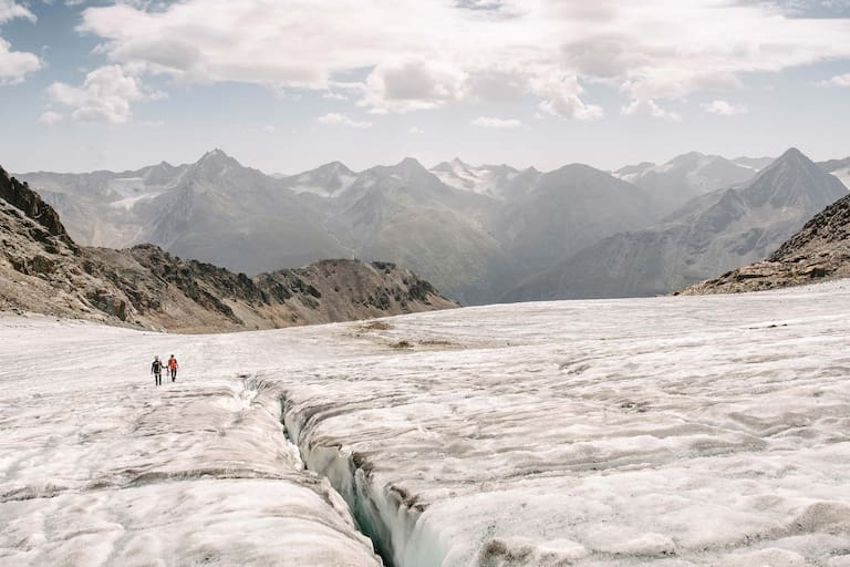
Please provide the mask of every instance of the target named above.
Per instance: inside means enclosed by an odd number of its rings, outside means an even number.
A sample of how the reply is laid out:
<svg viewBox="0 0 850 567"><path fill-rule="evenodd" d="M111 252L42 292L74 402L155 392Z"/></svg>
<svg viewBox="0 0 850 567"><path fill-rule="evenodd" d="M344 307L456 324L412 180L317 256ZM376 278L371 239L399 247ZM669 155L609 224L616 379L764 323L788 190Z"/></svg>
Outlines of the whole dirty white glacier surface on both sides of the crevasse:
<svg viewBox="0 0 850 567"><path fill-rule="evenodd" d="M344 499L396 567L850 567L849 346L850 282L206 337L0 317L0 564L375 565Z"/></svg>

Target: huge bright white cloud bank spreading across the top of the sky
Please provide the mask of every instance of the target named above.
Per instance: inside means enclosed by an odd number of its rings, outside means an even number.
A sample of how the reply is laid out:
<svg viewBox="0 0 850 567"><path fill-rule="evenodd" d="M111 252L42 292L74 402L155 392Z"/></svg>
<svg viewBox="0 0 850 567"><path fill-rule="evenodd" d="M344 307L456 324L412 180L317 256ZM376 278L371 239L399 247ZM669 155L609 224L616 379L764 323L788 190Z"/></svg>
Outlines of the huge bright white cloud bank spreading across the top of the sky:
<svg viewBox="0 0 850 567"><path fill-rule="evenodd" d="M154 6L155 4L155 6ZM352 90L371 112L538 97L548 114L603 115L580 84L626 109L736 89L754 73L850 59L850 19L729 0L184 0L92 7L81 30L114 62L176 81ZM794 16L794 17L792 17ZM246 33L250 30L250 33ZM360 89L360 87L359 87Z"/></svg>

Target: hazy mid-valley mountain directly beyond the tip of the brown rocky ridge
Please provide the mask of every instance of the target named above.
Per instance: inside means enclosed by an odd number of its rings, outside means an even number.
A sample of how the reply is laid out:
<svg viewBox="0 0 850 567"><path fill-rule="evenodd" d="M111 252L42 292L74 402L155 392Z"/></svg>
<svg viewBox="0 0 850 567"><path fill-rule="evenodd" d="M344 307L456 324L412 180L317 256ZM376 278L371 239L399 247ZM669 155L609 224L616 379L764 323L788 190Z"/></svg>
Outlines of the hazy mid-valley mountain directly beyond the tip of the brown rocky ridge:
<svg viewBox="0 0 850 567"><path fill-rule="evenodd" d="M511 262L488 234L497 202L442 183L416 159L359 174L324 221L362 259L388 258L464 302L498 293Z"/></svg>

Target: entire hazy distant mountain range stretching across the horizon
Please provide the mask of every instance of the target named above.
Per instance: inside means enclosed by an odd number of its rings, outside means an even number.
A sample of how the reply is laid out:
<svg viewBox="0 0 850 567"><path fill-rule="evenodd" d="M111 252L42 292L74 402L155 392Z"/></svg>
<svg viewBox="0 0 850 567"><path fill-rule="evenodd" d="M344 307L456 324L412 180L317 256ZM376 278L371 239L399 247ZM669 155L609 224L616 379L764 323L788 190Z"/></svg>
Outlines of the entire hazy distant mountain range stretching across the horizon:
<svg viewBox="0 0 850 567"><path fill-rule="evenodd" d="M406 158L268 176L216 150L179 166L19 177L85 245L151 243L247 274L387 260L475 305L666 293L744 266L847 194L848 167L791 150L611 173Z"/></svg>

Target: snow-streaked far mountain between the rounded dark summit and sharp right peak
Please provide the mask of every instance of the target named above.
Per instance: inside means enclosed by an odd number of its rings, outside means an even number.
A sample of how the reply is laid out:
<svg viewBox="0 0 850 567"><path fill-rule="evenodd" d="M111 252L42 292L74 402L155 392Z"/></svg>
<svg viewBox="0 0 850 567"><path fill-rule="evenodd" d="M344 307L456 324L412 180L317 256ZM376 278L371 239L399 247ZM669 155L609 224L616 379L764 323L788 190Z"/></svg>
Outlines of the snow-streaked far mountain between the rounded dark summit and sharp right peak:
<svg viewBox="0 0 850 567"><path fill-rule="evenodd" d="M649 193L657 204L660 215L665 215L694 197L733 185L748 182L758 173L755 163L747 165L717 155L698 152L680 155L663 165L644 163L623 167L614 176L638 185Z"/></svg>

